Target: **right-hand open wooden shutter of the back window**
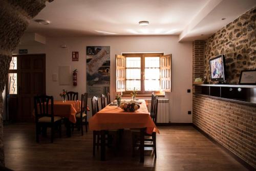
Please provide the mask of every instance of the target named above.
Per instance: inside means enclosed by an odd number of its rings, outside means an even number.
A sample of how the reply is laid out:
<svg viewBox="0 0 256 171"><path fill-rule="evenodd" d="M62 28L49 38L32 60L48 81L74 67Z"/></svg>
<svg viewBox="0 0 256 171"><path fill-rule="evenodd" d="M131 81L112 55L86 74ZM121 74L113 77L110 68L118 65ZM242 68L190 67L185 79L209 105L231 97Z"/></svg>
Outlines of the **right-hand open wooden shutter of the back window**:
<svg viewBox="0 0 256 171"><path fill-rule="evenodd" d="M172 54L160 56L160 88L163 92L172 91Z"/></svg>

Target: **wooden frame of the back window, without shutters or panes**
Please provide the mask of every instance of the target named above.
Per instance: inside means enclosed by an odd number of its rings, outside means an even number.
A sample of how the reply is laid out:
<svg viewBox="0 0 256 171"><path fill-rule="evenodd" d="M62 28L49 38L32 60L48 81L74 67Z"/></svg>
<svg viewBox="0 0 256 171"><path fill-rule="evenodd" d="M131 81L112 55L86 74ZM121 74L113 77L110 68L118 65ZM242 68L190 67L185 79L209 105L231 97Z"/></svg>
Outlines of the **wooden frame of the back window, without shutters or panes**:
<svg viewBox="0 0 256 171"><path fill-rule="evenodd" d="M145 86L144 86L144 82L145 82L145 57L159 57L159 63L160 63L160 57L163 56L164 53L122 53L122 56L125 57L140 57L140 66L141 66L141 83L140 83L140 91L137 91L138 95L151 95L152 92L154 92L156 95L164 95L164 92L161 91L145 91ZM126 61L126 59L125 59ZM159 66L160 69L160 66ZM126 67L125 67L125 74L126 74ZM132 91L126 91L126 78L125 78L125 91L122 92L123 95L130 95L132 93ZM161 83L161 79L160 79L160 75L159 75L159 87Z"/></svg>

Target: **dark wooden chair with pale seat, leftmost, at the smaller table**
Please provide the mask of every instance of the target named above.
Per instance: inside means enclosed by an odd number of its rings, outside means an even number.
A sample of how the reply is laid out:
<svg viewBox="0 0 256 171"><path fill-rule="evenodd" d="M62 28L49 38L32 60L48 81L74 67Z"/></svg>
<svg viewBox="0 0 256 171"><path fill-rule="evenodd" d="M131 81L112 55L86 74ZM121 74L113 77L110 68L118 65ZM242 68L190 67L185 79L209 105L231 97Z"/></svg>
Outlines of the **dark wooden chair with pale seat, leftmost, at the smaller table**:
<svg viewBox="0 0 256 171"><path fill-rule="evenodd" d="M51 128L51 142L53 142L56 127L59 129L59 136L61 137L61 117L54 116L53 105L53 96L41 95L34 97L36 142L39 142L41 129L45 130L46 133L47 127Z"/></svg>

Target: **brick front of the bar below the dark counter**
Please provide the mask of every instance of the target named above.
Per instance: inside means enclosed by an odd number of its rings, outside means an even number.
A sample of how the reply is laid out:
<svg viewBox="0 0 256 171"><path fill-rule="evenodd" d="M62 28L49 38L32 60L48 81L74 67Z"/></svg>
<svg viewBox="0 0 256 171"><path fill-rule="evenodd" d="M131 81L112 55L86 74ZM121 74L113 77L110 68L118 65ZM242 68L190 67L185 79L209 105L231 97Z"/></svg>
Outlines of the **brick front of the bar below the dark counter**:
<svg viewBox="0 0 256 171"><path fill-rule="evenodd" d="M193 96L193 123L256 168L256 108Z"/></svg>

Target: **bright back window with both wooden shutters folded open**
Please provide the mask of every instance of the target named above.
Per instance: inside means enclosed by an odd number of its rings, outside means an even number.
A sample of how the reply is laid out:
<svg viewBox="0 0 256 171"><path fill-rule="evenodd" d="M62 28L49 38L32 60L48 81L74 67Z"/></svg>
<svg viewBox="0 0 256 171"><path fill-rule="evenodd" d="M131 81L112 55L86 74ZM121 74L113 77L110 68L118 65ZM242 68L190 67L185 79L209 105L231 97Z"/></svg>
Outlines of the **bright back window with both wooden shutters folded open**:
<svg viewBox="0 0 256 171"><path fill-rule="evenodd" d="M116 56L116 91L130 94L170 92L171 55L134 53Z"/></svg>

